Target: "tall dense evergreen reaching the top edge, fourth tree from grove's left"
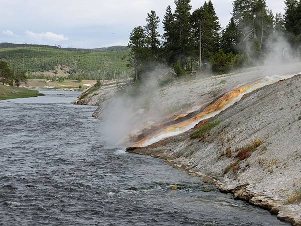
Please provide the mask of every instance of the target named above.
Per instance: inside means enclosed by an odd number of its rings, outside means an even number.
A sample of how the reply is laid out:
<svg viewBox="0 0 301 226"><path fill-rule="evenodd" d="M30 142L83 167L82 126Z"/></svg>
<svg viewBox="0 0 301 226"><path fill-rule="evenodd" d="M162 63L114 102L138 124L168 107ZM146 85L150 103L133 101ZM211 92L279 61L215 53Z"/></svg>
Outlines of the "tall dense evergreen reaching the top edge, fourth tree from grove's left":
<svg viewBox="0 0 301 226"><path fill-rule="evenodd" d="M182 67L191 54L191 14L190 0L175 0L175 43L173 49Z"/></svg>

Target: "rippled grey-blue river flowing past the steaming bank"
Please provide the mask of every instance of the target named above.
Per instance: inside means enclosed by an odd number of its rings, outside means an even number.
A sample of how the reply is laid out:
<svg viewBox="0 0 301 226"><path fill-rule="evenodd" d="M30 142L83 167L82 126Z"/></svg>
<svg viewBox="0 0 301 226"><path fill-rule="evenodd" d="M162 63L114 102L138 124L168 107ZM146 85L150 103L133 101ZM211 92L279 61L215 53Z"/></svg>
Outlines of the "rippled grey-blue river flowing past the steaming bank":
<svg viewBox="0 0 301 226"><path fill-rule="evenodd" d="M70 103L78 92L42 92L0 101L0 225L287 225L162 160L109 147L95 107Z"/></svg>

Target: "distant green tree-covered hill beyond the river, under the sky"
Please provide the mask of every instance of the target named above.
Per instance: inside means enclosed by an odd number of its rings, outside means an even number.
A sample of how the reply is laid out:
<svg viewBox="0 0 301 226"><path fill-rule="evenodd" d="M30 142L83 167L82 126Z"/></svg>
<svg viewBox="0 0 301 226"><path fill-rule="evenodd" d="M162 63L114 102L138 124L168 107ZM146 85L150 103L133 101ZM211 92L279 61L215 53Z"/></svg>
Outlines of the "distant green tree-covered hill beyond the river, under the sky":
<svg viewBox="0 0 301 226"><path fill-rule="evenodd" d="M129 50L67 51L60 48L0 48L0 60L22 69L30 78L111 79L131 74L127 64Z"/></svg>

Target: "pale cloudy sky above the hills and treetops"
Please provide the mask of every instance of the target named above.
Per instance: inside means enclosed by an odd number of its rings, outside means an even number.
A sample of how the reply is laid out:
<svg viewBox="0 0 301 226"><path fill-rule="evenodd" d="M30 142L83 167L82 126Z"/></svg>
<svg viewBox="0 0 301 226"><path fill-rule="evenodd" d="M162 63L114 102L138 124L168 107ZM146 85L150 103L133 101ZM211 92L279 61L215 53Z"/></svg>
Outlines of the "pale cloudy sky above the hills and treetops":
<svg viewBox="0 0 301 226"><path fill-rule="evenodd" d="M274 14L283 13L284 0L266 1ZM193 10L204 2L192 0ZM225 27L233 0L212 2ZM162 20L168 5L174 9L174 0L0 0L0 43L75 48L127 45L130 31L145 24L150 10Z"/></svg>

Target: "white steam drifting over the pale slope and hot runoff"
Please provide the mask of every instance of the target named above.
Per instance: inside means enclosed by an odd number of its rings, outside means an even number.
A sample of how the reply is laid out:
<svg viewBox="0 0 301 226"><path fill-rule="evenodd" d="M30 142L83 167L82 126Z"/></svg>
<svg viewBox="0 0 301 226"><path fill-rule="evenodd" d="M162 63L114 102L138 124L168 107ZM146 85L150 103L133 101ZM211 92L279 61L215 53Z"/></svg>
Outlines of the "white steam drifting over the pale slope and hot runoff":
<svg viewBox="0 0 301 226"><path fill-rule="evenodd" d="M277 34L270 37L266 44L268 52L264 55L264 65L256 64L252 68L244 68L227 75L204 75L199 73L195 78L187 76L162 86L160 81L168 79L170 70L162 66L147 74L146 79L136 88L118 92L114 98L106 101L102 107L102 131L108 142L122 147L145 146L164 138L181 134L193 128L200 121L211 118L248 92L287 79L301 71L299 58L286 39ZM251 84L251 85L250 85ZM250 86L249 86L250 85ZM200 109L202 104L211 102L218 96L239 87L248 87L222 108L189 122L183 127L171 125L173 130L162 128L150 137L143 136L143 130L151 130L155 125ZM130 137L137 140L132 141Z"/></svg>

